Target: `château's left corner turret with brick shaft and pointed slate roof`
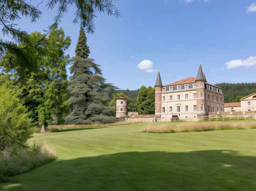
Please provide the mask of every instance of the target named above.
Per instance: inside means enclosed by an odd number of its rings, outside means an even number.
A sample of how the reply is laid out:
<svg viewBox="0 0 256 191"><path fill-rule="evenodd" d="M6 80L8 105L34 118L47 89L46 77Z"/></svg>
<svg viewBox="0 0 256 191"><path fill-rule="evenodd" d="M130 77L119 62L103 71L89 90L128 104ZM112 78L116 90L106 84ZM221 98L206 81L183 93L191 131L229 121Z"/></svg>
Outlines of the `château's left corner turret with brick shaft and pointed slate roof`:
<svg viewBox="0 0 256 191"><path fill-rule="evenodd" d="M161 118L161 110L162 110L162 80L160 76L160 72L157 74L157 78L155 81L155 117Z"/></svg>

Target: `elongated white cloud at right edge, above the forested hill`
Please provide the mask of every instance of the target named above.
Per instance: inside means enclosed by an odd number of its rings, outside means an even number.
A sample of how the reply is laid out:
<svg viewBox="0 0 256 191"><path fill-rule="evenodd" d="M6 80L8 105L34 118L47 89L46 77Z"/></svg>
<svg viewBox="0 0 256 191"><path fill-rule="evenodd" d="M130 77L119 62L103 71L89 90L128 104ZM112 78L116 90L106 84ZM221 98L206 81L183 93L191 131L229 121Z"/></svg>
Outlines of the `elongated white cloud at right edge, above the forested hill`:
<svg viewBox="0 0 256 191"><path fill-rule="evenodd" d="M237 68L241 66L249 67L256 65L256 56L249 56L247 59L242 60L231 60L227 63L225 63L228 69Z"/></svg>

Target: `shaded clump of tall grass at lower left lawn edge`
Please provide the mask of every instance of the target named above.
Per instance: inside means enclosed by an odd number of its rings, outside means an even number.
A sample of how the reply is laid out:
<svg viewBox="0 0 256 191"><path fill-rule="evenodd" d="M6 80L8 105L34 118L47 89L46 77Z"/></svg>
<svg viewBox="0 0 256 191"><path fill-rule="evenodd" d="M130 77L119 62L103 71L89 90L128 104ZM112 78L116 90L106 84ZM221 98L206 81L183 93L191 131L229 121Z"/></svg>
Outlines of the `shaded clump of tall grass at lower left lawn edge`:
<svg viewBox="0 0 256 191"><path fill-rule="evenodd" d="M45 143L35 144L30 149L19 149L13 153L0 153L0 177L15 176L56 159L56 153ZM1 178L0 178L1 179ZM3 180L2 180L3 181Z"/></svg>

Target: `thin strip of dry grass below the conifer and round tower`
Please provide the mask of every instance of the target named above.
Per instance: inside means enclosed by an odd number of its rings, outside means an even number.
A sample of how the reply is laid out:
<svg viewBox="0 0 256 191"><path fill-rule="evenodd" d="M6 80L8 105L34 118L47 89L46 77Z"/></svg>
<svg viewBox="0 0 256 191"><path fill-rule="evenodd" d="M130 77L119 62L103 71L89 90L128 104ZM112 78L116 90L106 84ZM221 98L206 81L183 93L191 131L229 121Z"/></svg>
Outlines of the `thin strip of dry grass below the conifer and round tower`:
<svg viewBox="0 0 256 191"><path fill-rule="evenodd" d="M90 125L75 125L75 124L67 124L67 125L50 125L48 126L48 130L50 132L53 131L53 129L67 129L67 128L83 128L83 127L109 127L109 126L116 126L116 125L128 125L138 122L133 121L124 121L124 122L116 122L116 123L94 123Z"/></svg>

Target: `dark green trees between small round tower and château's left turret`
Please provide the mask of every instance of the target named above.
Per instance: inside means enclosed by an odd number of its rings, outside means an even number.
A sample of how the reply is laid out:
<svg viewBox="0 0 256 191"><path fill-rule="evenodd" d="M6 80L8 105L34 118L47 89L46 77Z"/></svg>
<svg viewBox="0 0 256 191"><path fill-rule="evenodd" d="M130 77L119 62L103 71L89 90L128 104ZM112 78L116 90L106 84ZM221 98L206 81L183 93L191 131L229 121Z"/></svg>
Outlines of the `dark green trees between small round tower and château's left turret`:
<svg viewBox="0 0 256 191"><path fill-rule="evenodd" d="M155 89L141 86L136 104L139 114L155 114Z"/></svg>

